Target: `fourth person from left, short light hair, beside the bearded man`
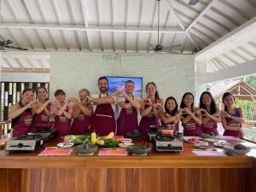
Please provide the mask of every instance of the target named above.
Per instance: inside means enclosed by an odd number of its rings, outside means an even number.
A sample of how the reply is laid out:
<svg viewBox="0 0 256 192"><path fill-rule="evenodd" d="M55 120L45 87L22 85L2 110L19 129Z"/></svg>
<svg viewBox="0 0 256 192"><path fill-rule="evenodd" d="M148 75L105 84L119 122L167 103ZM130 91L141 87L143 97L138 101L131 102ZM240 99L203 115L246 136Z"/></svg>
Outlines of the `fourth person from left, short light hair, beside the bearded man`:
<svg viewBox="0 0 256 192"><path fill-rule="evenodd" d="M75 103L72 124L74 135L84 135L90 129L92 106L86 96L90 96L90 92L89 90L83 89L79 91L80 102L78 99L73 98L73 102Z"/></svg>

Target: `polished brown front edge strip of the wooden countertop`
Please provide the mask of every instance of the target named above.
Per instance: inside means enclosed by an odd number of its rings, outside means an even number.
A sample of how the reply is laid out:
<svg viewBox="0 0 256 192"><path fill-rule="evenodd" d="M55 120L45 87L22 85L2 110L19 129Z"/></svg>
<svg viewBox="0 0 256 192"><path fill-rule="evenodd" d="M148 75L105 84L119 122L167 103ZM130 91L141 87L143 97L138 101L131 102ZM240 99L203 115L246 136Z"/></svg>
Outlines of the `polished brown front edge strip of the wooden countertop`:
<svg viewBox="0 0 256 192"><path fill-rule="evenodd" d="M0 157L0 168L252 168L253 157Z"/></svg>

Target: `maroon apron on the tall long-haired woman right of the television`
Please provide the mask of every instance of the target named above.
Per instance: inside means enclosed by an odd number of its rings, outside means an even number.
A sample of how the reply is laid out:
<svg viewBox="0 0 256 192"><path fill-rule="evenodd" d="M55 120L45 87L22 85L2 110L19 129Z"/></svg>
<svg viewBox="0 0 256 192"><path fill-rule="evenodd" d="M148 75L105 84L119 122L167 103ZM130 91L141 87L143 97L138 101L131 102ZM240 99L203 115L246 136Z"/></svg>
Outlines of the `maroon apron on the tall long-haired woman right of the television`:
<svg viewBox="0 0 256 192"><path fill-rule="evenodd" d="M145 103L145 108L149 108L149 105ZM148 129L150 125L160 125L160 119L154 116L153 109L146 116L143 116L139 125L139 131L143 134L143 136L148 135Z"/></svg>

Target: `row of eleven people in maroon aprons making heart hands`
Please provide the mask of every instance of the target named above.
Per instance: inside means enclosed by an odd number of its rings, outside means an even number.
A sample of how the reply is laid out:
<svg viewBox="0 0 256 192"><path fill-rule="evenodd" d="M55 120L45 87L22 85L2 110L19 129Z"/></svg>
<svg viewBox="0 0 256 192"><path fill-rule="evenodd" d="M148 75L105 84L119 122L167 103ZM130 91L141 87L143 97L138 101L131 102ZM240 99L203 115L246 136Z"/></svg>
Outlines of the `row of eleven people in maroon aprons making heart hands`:
<svg viewBox="0 0 256 192"><path fill-rule="evenodd" d="M224 110L217 108L209 91L201 94L199 108L194 106L193 94L186 92L178 109L173 96L163 102L154 82L146 85L146 98L133 95L135 84L131 80L125 82L125 90L108 94L108 79L101 77L98 88L100 92L96 96L90 96L89 90L80 90L79 99L66 99L64 90L56 90L55 100L47 99L44 87L36 90L36 100L34 90L23 90L20 102L9 111L13 137L36 129L35 125L47 124L50 119L54 119L59 136L81 135L90 131L99 135L107 135L110 131L117 135L139 131L146 136L150 125L163 125L176 133L181 121L184 136L218 135L218 123L222 123L224 136L243 137L243 113L241 108L236 108L235 97L229 92L224 93L222 99ZM116 105L119 110L116 110ZM116 111L119 111L118 115ZM138 114L141 115L140 121Z"/></svg>

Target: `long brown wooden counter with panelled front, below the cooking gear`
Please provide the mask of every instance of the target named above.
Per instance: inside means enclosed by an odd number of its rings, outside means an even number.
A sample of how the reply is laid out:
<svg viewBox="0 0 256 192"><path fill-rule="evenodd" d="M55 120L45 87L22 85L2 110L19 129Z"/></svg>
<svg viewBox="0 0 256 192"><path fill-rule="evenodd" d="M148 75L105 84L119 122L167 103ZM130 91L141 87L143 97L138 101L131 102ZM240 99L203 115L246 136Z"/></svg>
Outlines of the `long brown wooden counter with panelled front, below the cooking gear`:
<svg viewBox="0 0 256 192"><path fill-rule="evenodd" d="M122 157L77 156L76 150L65 157L38 156L41 150L12 154L1 151L0 192L255 191L254 152L202 157L193 154L192 148L191 143L184 143L180 154L153 149L148 156Z"/></svg>

